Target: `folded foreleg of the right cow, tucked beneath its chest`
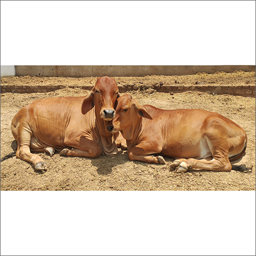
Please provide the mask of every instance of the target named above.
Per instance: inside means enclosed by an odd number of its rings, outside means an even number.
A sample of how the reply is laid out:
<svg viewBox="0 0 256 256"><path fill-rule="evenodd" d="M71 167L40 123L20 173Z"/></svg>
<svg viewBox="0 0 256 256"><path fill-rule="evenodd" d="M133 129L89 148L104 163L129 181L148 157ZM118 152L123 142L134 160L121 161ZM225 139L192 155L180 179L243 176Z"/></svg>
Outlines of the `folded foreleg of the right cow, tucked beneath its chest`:
<svg viewBox="0 0 256 256"><path fill-rule="evenodd" d="M165 160L162 156L152 156L151 154L157 154L160 153L161 150L154 148L155 150L147 149L142 143L138 144L137 146L132 147L128 152L128 157L130 160L133 161L141 161L141 162L146 162L146 163L162 163L165 164ZM150 156L151 155L151 156Z"/></svg>

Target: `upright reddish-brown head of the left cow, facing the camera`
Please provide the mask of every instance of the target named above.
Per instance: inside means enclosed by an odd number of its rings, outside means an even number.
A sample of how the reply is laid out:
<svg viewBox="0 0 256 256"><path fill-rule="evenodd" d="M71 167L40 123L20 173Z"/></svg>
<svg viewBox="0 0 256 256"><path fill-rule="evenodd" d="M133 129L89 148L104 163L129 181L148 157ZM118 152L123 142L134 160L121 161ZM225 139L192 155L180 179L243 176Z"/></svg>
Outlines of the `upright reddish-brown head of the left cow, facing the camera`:
<svg viewBox="0 0 256 256"><path fill-rule="evenodd" d="M108 76L99 77L91 93L83 100L82 114L86 114L95 106L96 114L109 121L115 117L115 103L119 97L117 84Z"/></svg>

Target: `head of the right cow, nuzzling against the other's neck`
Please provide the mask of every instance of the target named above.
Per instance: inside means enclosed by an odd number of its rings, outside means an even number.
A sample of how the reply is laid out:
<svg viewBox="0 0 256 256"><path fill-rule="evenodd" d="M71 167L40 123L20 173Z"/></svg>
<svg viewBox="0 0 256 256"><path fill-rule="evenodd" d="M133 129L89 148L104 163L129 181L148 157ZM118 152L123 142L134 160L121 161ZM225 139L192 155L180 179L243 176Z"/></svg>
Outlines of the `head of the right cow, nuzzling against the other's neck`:
<svg viewBox="0 0 256 256"><path fill-rule="evenodd" d="M138 116L152 119L146 109L132 96L125 94L117 99L116 117L112 120L113 126L108 126L108 131L117 133L121 131L125 139L130 139L137 125Z"/></svg>

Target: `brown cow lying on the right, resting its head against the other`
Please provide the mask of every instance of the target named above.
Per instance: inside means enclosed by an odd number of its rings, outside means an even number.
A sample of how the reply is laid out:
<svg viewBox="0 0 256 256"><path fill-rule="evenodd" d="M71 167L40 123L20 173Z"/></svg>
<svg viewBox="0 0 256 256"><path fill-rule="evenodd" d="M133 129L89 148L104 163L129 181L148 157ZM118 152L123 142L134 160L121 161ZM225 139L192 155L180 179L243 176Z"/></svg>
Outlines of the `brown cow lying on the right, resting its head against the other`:
<svg viewBox="0 0 256 256"><path fill-rule="evenodd" d="M112 123L108 130L121 132L130 160L165 163L162 156L168 156L176 159L171 167L178 173L188 168L229 171L247 142L242 127L218 113L141 106L127 94L117 99Z"/></svg>

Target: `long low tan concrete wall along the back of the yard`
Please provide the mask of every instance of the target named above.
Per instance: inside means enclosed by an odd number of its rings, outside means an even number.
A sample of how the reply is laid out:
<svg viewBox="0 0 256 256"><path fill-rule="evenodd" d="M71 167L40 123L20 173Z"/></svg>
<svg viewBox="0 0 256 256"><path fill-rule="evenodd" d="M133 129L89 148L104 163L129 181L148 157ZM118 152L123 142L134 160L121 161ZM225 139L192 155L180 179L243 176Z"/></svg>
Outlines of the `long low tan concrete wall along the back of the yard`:
<svg viewBox="0 0 256 256"><path fill-rule="evenodd" d="M231 73L236 70L255 71L253 65L223 66L15 66L16 76L99 77L213 74L217 71Z"/></svg>

